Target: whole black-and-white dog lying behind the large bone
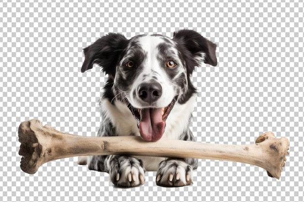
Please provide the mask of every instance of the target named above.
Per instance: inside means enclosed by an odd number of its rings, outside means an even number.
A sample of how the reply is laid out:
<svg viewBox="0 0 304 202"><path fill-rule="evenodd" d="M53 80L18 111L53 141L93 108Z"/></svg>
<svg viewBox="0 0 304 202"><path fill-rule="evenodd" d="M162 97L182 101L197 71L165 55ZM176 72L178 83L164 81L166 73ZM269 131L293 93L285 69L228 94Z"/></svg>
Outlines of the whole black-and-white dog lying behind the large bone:
<svg viewBox="0 0 304 202"><path fill-rule="evenodd" d="M128 40L109 33L84 48L81 71L97 64L108 75L98 136L195 141L189 129L197 96L191 75L203 62L217 65L216 47L196 31L180 30L172 39L154 34ZM187 186L198 167L197 159L129 155L80 157L78 163L108 172L118 187L144 184L145 171L157 171L158 186Z"/></svg>

